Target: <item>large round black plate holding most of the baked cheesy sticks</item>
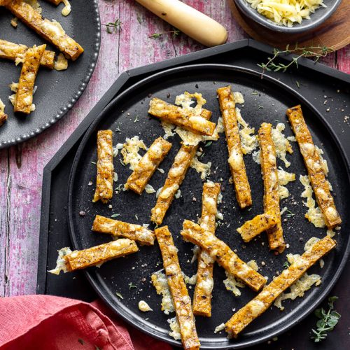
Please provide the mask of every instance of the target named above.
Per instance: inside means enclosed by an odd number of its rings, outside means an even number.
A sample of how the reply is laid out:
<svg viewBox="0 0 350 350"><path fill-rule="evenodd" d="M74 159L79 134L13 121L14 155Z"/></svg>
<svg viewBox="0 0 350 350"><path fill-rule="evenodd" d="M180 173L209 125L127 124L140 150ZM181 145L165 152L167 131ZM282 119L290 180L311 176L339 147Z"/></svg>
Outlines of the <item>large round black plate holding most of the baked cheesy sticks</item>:
<svg viewBox="0 0 350 350"><path fill-rule="evenodd" d="M263 121L273 125L276 125L278 121L286 123L286 109L295 104L302 104L304 116L314 141L323 148L325 159L328 160L329 179L334 188L335 202L344 220L343 227L346 228L348 220L346 213L349 213L350 210L348 169L342 149L322 116L299 94L277 80L267 77L261 79L259 73L234 66L200 64L169 69L130 87L106 107L87 131L76 154L69 185L69 225L74 248L82 249L109 241L110 237L91 231L92 221L96 214L103 216L120 214L118 219L122 221L149 223L151 208L155 204L154 193L152 195L144 193L139 197L134 193L123 191L113 196L111 209L108 204L92 203L96 179L94 162L97 158L97 130L113 130L114 144L123 143L126 137L139 135L146 145L150 146L155 138L164 134L159 121L148 116L148 102L151 96L174 103L176 95L183 91L202 92L207 99L205 107L213 111L212 120L216 122L220 116L216 89L228 84L232 85L233 90L244 94L245 103L244 106L241 106L241 113L246 121L255 127L255 130ZM286 134L292 135L287 123ZM165 174L155 172L151 179L151 185L155 189L163 185L174 155L179 150L179 139L175 137L171 141L173 143L172 150L161 165L161 168L165 169ZM237 208L233 186L229 183L230 171L225 137L221 134L218 142L213 142L211 146L203 149L205 155L202 161L212 162L212 172L209 179L220 182L223 190L223 202L218 209L223 213L224 220L223 225L220 225L216 230L217 236L227 242L232 249L237 249L238 255L243 260L255 259L260 266L260 272L264 276L269 276L270 281L276 271L283 269L287 253L302 253L307 239L325 235L325 229L315 228L304 218L306 207L302 204L300 197L302 185L297 179L288 185L290 197L281 202L281 207L288 207L295 214L287 218L287 221L283 221L284 235L289 248L283 254L275 256L267 248L265 235L261 235L256 241L251 241L249 244L243 244L235 229L247 219L262 213L263 188L260 165L253 162L251 155L245 156L248 179L252 188L253 207L241 211ZM292 162L288 171L295 172L299 178L299 174L306 174L306 170L296 144L293 144L293 150L293 155L288 157ZM130 169L123 167L117 158L115 158L114 165L119 179L115 187L125 183L131 173ZM284 167L283 164L279 165ZM89 181L92 181L92 186L88 185ZM184 242L179 236L179 232L185 218L197 221L201 214L201 196L202 181L200 176L194 169L189 169L181 186L181 197L174 200L164 221L164 225L169 225L176 246L179 248L179 259L183 272L189 276L195 274L197 269L197 264L190 264L193 245ZM86 215L80 216L80 211L85 211ZM286 301L286 309L283 312L272 307L249 325L239 339L235 340L228 340L225 337L225 332L215 335L214 329L217 325L228 321L234 310L251 300L255 293L249 288L243 288L241 297L232 295L231 292L225 290L223 285L223 279L225 279L223 269L216 266L214 269L212 317L197 317L196 320L203 349L218 349L220 347L237 349L256 344L283 332L309 314L329 292L346 261L349 235L345 230L342 230L342 234L337 235L336 239L337 248L325 258L323 269L318 264L311 268L312 273L322 275L321 286L311 288L303 298L297 298L293 302ZM265 265L262 262L265 262ZM161 297L155 293L150 283L151 274L161 268L162 260L156 244L151 247L141 247L139 253L107 262L99 269L96 267L87 269L86 274L97 293L120 316L154 337L164 339L172 344L179 344L168 335L167 318L170 317L160 311ZM137 288L130 288L130 283ZM189 288L192 295L193 287ZM116 295L117 292L123 295L123 299ZM139 311L137 307L139 300L146 300L154 311L146 314Z"/></svg>

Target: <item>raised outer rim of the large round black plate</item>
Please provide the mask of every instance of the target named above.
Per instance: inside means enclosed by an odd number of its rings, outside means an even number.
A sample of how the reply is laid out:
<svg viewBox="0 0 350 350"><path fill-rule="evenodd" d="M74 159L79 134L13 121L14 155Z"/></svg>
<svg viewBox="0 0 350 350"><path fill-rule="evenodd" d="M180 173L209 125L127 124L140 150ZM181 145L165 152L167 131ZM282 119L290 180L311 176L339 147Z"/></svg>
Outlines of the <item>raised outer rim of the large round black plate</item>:
<svg viewBox="0 0 350 350"><path fill-rule="evenodd" d="M118 102L121 99L123 99L123 97L125 95L132 92L132 90L134 90L135 88L141 87L142 85L145 85L145 84L149 83L151 80L155 80L155 79L159 78L160 76L172 74L176 71L190 71L193 69L203 69L203 68L228 69L230 71L239 71L241 73L243 72L243 73L247 73L247 74L250 74L253 76L261 76L261 73L254 71L253 69L247 69L247 68L244 68L241 66L234 66L234 65L230 65L230 64L190 64L190 65L186 65L186 66L179 66L179 67L175 67L175 68L171 68L171 69L166 69L165 71L160 71L158 73L153 74L152 76L148 76L147 78L144 78L143 80L140 80L139 82L135 83L134 85L128 87L127 90L125 90L124 92L119 94L117 97L115 97L103 109L103 111L101 113L99 113L99 116L97 116L97 118L94 120L94 122L87 129L87 131L84 134L83 139L80 141L80 144L78 146L78 150L76 151L76 155L75 155L74 160L73 160L71 172L69 174L68 214L67 215L68 215L69 236L71 238L71 243L73 244L74 249L79 249L79 245L78 245L78 241L76 240L76 236L74 235L74 230L73 230L73 214L72 214L72 209L71 209L72 208L72 193L74 190L73 182L74 182L76 170L78 169L78 163L80 162L80 158L83 155L82 153L84 151L85 145L87 144L87 141L92 136L92 133L95 131L97 125L102 121L104 116L106 114L108 114L109 109L113 108L113 106L115 104L118 104ZM350 185L350 159L349 159L349 156L346 155L344 148L342 147L342 145L339 142L337 134L335 134L335 132L332 130L332 127L330 127L330 124L328 123L328 121L325 120L325 118L321 115L321 113L318 112L318 110L311 104L311 102L309 102L307 99L302 97L301 94L299 94L298 92L296 92L292 88L288 87L288 85L286 85L285 83L282 83L281 81L279 81L275 78L272 78L270 76L265 76L264 79L269 80L269 83L272 83L272 84L276 85L277 87L283 88L283 90L292 94L296 99L298 99L300 102L302 102L302 104L307 105L307 107L317 116L318 120L320 120L321 123L323 123L323 126L327 127L328 132L330 133L330 136L332 137L332 141L335 142L335 145L337 146L338 150L340 151L342 161L344 162L344 165L346 167L346 174L347 174L348 182ZM346 260L349 258L349 255L350 255L350 237L348 238L348 242L347 242L344 254L342 256L342 260L341 260L340 264L337 266L335 274L333 275L331 281L328 283L327 286L325 286L321 295L316 297L315 300L313 302L311 302L311 304L309 304L309 307L307 307L306 309L304 309L302 311L300 316L290 320L287 325L284 325L281 328L276 328L276 330L274 332L269 332L269 334L262 335L262 336L258 337L257 339L249 339L249 340L246 340L244 342L240 342L239 344L225 344L225 345L220 346L220 347L218 347L217 343L213 344L212 346L206 344L204 346L201 346L201 349L243 349L243 348L246 348L248 346L260 344L260 343L265 342L269 339L272 339L273 337L280 335L283 332L286 332L286 330L292 328L294 325L296 325L297 323L302 321L302 319L304 319L306 316L308 316L318 306L318 304L320 304L325 299L325 297L328 295L328 293L330 293L330 290L332 289L332 287L335 285L335 283L339 279L339 276L342 273L342 270L344 269ZM111 300L109 298L109 294L103 290L102 286L100 286L99 281L97 281L95 279L93 274L86 269L84 269L83 272L84 272L85 276L87 277L87 280L89 281L91 286L94 288L94 290L99 295L99 297L101 297L102 300L104 300L104 302L114 312L116 312L116 314L118 314L118 316L123 318L123 320L127 321L127 323L130 323L130 325L141 330L141 332L144 332L147 335L151 335L151 337L155 337L156 339L160 339L160 340L167 342L169 344L172 344L174 346L179 346L179 347L182 346L181 342L172 339L172 337L164 336L164 335L156 332L153 328L147 328L146 323L143 326L138 325L137 323L134 323L133 322L134 317L130 314L124 313L123 311L120 311L120 309L118 309L118 307L116 307L116 304L114 304L113 300Z"/></svg>

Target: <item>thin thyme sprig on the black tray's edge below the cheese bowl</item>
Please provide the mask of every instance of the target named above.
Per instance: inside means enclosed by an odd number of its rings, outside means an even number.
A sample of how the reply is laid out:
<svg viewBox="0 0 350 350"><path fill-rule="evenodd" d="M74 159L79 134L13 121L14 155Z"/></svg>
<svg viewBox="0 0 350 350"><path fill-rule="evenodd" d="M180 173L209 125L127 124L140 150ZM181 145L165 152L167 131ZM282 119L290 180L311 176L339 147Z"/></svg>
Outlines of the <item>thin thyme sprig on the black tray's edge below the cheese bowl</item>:
<svg viewBox="0 0 350 350"><path fill-rule="evenodd" d="M283 73L290 67L295 65L298 68L298 61L302 57L314 56L316 59L314 62L317 62L321 57L327 56L330 52L333 52L331 48L327 46L308 46L304 48L300 48L297 44L295 48L289 48L289 44L286 45L286 50L279 50L278 48L274 48L274 56L268 57L267 63L260 63L258 66L262 68L261 78L264 76L265 71L283 71ZM276 63L276 58L280 57L282 54L295 54L295 57L288 64Z"/></svg>

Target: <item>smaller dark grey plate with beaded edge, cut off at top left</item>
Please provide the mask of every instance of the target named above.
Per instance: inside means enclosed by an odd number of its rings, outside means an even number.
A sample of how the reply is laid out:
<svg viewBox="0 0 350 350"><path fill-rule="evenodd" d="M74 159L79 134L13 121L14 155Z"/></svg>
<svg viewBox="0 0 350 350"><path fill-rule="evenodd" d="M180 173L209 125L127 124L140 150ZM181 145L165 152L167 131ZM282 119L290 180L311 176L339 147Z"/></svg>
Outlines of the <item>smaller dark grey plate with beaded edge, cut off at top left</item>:
<svg viewBox="0 0 350 350"><path fill-rule="evenodd" d="M40 4L42 15L60 22L66 33L78 41L85 51L76 62L69 61L66 71L40 69L35 83L38 87L34 94L36 111L27 117L15 115L8 100L8 96L13 94L8 85L18 82L21 66L15 66L5 59L0 60L0 99L6 104L5 111L8 114L8 120L0 127L0 148L30 139L62 118L85 90L97 62L101 34L97 0L72 1L71 14L67 17L61 14L62 4L57 7L47 1L41 1ZM46 43L20 21L17 29L14 29L10 25L11 18L12 13L0 7L2 39L28 46ZM52 45L48 44L47 48L59 52Z"/></svg>

